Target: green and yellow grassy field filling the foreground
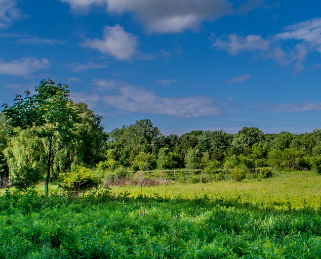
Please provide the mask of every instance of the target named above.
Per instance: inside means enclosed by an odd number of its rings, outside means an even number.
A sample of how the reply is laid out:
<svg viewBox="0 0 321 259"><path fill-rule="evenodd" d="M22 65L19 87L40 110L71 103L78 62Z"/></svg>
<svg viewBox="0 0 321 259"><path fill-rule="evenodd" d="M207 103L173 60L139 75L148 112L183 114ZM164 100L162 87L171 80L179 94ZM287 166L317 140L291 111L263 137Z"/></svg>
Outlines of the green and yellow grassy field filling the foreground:
<svg viewBox="0 0 321 259"><path fill-rule="evenodd" d="M320 180L2 191L0 258L321 258Z"/></svg>

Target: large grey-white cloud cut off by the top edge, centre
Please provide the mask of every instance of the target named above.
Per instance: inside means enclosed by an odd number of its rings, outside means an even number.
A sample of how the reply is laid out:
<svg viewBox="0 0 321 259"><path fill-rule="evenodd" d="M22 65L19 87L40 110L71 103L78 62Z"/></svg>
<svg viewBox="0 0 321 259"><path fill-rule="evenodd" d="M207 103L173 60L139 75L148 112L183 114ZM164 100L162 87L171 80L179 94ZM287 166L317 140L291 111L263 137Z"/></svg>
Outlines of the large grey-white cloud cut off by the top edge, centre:
<svg viewBox="0 0 321 259"><path fill-rule="evenodd" d="M105 7L110 14L130 13L149 32L176 33L197 29L204 20L216 20L225 15L246 14L264 3L249 0L234 10L227 0L60 0L74 12L88 11L91 6Z"/></svg>

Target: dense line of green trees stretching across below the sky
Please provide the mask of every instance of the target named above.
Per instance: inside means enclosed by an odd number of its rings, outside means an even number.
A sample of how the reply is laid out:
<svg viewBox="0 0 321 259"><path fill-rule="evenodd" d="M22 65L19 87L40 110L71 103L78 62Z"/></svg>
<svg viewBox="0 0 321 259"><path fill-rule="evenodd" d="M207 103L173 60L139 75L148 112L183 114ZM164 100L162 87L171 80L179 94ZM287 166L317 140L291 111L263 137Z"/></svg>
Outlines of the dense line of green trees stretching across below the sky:
<svg viewBox="0 0 321 259"><path fill-rule="evenodd" d="M236 134L192 131L164 136L149 119L104 132L102 117L69 99L68 85L41 81L35 94L17 96L0 114L0 176L15 186L48 184L76 166L133 171L256 167L321 171L321 130L264 134L244 127ZM120 169L122 171L122 169ZM2 183L2 181L0 181Z"/></svg>

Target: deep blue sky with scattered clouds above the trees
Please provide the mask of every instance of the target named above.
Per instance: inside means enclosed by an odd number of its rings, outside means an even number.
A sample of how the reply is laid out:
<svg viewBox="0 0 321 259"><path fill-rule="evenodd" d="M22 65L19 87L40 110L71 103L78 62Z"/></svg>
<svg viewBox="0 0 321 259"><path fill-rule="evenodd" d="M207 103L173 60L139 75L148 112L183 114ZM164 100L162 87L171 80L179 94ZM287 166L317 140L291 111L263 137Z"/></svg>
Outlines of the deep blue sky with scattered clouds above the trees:
<svg viewBox="0 0 321 259"><path fill-rule="evenodd" d="M0 0L0 102L67 83L106 131L149 118L192 130L312 132L321 2Z"/></svg>

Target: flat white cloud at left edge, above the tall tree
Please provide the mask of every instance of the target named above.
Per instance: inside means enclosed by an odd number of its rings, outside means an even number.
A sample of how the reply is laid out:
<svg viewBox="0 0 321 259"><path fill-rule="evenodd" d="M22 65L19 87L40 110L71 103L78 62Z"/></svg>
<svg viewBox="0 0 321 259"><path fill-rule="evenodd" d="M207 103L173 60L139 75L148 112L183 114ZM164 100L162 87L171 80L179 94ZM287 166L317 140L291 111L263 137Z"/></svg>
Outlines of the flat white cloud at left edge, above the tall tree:
<svg viewBox="0 0 321 259"><path fill-rule="evenodd" d="M35 57L17 59L11 62L0 60L0 74L27 76L39 69L50 67L48 59L39 60Z"/></svg>

